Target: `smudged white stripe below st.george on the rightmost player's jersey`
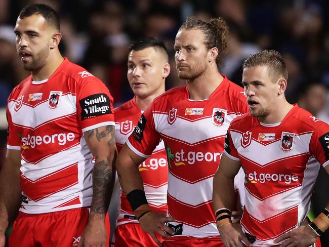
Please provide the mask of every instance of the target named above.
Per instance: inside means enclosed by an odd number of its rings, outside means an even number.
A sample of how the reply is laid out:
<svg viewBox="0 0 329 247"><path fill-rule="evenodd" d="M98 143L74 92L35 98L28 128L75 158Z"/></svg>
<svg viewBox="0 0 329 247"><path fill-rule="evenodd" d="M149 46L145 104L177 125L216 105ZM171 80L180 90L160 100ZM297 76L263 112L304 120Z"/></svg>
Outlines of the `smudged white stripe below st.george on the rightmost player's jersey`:
<svg viewBox="0 0 329 247"><path fill-rule="evenodd" d="M300 200L301 186L297 186L264 200L256 198L248 189L244 191L246 210L253 218L259 222L264 222L282 212L297 207Z"/></svg>

